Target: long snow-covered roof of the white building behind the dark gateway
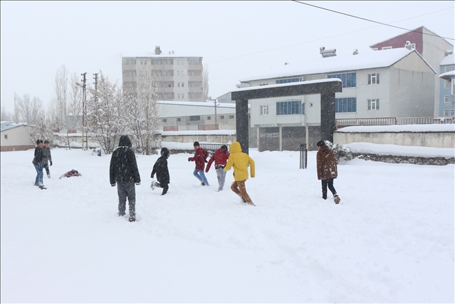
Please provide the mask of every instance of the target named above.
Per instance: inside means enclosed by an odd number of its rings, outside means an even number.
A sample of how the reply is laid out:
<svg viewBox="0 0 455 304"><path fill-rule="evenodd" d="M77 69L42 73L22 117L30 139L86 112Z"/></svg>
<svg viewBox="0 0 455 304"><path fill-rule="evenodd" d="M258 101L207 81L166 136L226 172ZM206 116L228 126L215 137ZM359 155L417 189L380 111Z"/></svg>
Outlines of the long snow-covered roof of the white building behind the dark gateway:
<svg viewBox="0 0 455 304"><path fill-rule="evenodd" d="M418 57L421 57L421 59L425 61L421 54L418 54L416 50L408 50L407 48L392 48L390 50L381 50L380 52L370 50L368 52L356 55L309 59L301 61L300 63L291 63L262 74L245 77L241 79L241 82L280 77L297 77L308 74L346 72L371 68L386 68L400 61L412 52L415 52ZM427 62L425 61L425 63ZM434 70L431 65L428 63L427 65L429 68ZM436 71L434 71L434 73L436 74Z"/></svg>

